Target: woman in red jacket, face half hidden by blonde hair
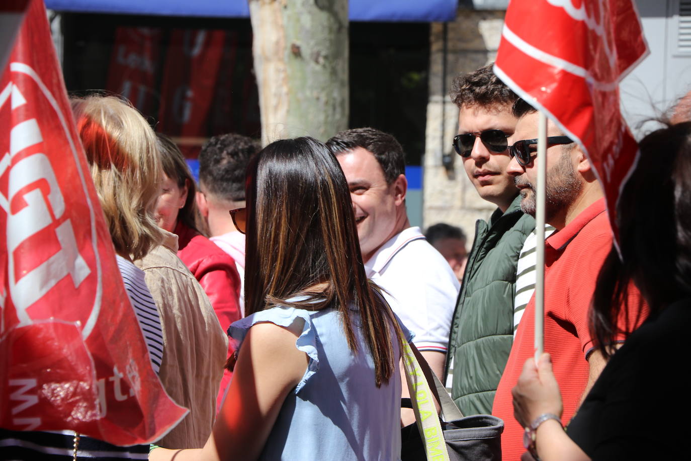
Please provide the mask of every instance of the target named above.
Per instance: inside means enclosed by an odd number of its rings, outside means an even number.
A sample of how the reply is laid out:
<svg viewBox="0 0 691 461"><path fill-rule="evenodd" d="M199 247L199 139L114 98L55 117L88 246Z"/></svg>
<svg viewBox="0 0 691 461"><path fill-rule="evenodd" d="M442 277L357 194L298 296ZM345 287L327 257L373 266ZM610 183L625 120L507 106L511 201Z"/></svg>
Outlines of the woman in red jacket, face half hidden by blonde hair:
<svg viewBox="0 0 691 461"><path fill-rule="evenodd" d="M161 229L178 236L178 258L202 285L225 331L241 317L238 304L240 275L234 259L196 227L196 187L182 152L166 135L156 133L156 137L163 166L163 180L155 209L156 222ZM230 346L228 357L232 352ZM231 373L226 370L216 398L217 410L220 410L230 378Z"/></svg>

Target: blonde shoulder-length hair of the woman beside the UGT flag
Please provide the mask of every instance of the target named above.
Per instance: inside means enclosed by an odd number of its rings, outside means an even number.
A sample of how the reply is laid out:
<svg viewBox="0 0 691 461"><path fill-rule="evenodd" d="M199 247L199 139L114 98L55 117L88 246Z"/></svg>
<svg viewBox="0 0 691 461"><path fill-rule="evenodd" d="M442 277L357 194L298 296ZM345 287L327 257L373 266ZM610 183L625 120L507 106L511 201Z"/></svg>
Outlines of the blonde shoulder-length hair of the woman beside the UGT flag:
<svg viewBox="0 0 691 461"><path fill-rule="evenodd" d="M115 250L142 258L163 238L153 219L162 180L156 136L118 97L91 95L71 103Z"/></svg>

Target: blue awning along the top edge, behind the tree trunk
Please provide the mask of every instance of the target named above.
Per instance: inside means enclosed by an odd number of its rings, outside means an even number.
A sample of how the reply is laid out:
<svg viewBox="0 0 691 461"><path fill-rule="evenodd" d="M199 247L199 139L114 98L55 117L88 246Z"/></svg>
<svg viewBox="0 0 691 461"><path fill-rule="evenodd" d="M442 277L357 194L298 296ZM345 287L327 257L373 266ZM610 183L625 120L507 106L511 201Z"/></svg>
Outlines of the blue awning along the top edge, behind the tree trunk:
<svg viewBox="0 0 691 461"><path fill-rule="evenodd" d="M249 17L247 0L45 0L57 11L118 15ZM453 21L458 0L350 0L351 21Z"/></svg>

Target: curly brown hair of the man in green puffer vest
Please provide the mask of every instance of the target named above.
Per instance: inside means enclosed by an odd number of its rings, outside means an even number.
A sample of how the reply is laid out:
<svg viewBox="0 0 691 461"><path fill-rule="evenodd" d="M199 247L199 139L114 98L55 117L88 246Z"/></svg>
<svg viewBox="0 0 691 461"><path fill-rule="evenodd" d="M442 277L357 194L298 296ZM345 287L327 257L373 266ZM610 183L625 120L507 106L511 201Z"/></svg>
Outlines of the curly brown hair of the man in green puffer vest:
<svg viewBox="0 0 691 461"><path fill-rule="evenodd" d="M513 104L518 99L518 95L495 75L492 64L455 77L448 95L459 108Z"/></svg>

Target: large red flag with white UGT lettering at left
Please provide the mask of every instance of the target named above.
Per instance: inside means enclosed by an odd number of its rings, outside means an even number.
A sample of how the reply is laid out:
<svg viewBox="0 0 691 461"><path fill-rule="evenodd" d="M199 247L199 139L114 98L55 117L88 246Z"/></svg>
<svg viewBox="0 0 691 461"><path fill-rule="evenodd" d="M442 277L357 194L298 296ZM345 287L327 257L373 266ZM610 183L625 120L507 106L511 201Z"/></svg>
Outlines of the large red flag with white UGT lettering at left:
<svg viewBox="0 0 691 461"><path fill-rule="evenodd" d="M186 413L151 368L41 0L0 79L0 426L158 440Z"/></svg>

